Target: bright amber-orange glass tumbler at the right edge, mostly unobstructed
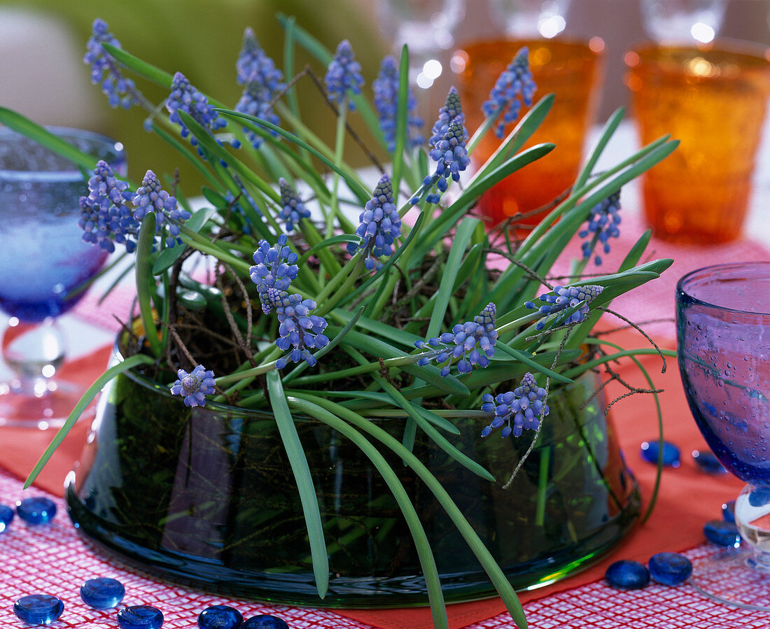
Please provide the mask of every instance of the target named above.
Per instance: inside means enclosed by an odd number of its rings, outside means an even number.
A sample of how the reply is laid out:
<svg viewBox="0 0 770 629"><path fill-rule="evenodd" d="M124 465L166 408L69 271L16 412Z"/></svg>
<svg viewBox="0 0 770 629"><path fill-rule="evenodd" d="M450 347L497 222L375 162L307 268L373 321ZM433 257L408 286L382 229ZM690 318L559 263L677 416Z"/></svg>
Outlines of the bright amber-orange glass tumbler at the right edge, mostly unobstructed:
<svg viewBox="0 0 770 629"><path fill-rule="evenodd" d="M665 133L681 141L642 179L658 238L703 245L741 236L770 93L763 52L644 44L626 53L642 144Z"/></svg>

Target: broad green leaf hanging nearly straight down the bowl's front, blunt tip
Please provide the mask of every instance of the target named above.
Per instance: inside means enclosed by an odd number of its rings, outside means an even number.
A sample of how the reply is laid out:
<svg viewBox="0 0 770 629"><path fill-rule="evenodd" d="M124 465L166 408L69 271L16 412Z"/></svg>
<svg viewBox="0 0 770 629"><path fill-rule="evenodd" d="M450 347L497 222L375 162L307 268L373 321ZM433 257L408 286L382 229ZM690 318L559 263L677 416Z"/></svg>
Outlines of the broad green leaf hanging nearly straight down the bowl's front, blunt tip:
<svg viewBox="0 0 770 629"><path fill-rule="evenodd" d="M313 486L310 467L307 464L305 450L300 443L300 436L296 433L289 404L286 403L281 376L277 371L269 371L265 375L270 407L276 417L276 425L283 440L283 447L286 448L286 456L289 457L297 489L300 490L307 536L310 539L310 555L313 557L313 575L316 578L318 596L323 598L326 597L326 591L329 589L329 557L326 554L326 541L323 539L323 525L316 488Z"/></svg>

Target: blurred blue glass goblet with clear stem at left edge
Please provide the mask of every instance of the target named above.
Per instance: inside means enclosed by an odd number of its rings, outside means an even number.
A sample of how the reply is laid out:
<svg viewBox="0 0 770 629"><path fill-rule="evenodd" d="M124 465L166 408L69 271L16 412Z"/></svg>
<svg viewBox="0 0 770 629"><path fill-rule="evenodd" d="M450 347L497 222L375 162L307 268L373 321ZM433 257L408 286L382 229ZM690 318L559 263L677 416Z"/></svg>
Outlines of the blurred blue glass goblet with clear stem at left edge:
<svg viewBox="0 0 770 629"><path fill-rule="evenodd" d="M51 129L82 152L126 172L122 145L78 129ZM15 372L0 383L0 425L55 427L82 394L55 379L65 339L55 317L81 299L107 253L82 241L87 177L39 143L0 129L0 309L8 314L2 357Z"/></svg>

